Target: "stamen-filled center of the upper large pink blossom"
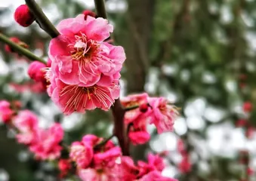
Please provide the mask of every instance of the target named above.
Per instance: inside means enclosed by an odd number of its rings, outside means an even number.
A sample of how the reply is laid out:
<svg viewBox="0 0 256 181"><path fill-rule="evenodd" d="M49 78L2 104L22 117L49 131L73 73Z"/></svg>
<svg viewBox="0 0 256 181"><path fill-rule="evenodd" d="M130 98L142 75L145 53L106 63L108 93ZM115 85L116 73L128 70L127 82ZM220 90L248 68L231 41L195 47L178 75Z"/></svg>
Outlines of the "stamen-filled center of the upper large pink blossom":
<svg viewBox="0 0 256 181"><path fill-rule="evenodd" d="M97 52L97 48L99 44L94 40L88 40L86 35L81 33L81 35L75 35L76 43L69 44L72 47L72 51L70 54L72 55L73 60L85 61L88 63L91 61L91 57L95 52Z"/></svg>

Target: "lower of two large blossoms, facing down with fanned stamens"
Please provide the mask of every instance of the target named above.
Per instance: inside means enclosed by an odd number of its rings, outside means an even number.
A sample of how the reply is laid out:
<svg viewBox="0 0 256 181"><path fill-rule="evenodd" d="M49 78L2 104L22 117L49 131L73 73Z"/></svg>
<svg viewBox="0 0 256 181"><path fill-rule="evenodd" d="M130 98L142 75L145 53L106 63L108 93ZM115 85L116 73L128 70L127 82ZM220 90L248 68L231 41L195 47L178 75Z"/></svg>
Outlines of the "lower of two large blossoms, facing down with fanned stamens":
<svg viewBox="0 0 256 181"><path fill-rule="evenodd" d="M102 77L97 84L82 87L78 84L65 84L54 75L50 78L48 94L66 115L72 112L85 112L86 109L108 110L119 97L119 77L119 73L110 79Z"/></svg>

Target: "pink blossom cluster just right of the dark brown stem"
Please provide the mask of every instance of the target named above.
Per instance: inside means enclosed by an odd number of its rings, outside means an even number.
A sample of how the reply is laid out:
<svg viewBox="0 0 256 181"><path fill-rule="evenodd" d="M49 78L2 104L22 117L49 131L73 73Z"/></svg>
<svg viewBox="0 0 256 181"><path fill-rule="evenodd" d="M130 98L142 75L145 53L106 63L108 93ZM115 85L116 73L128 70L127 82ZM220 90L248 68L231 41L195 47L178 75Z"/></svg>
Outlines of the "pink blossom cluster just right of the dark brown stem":
<svg viewBox="0 0 256 181"><path fill-rule="evenodd" d="M147 93L133 94L121 100L125 109L128 137L134 145L147 143L150 133L147 124L154 124L158 133L172 131L178 112L164 97L149 97Z"/></svg>

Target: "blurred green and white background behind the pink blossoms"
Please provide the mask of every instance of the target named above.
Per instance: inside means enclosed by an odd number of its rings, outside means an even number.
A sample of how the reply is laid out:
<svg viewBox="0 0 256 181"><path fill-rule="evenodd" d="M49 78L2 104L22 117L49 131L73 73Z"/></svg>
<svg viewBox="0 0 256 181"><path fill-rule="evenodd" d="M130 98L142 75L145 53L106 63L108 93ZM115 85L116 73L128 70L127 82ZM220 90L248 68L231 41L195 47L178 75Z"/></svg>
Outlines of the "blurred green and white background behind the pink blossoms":
<svg viewBox="0 0 256 181"><path fill-rule="evenodd" d="M86 9L94 10L93 0L37 2L54 24ZM17 36L35 54L47 57L48 35L36 23L23 28L14 21L14 10L21 4L22 0L0 2L0 32ZM251 169L256 168L256 137L252 133L247 139L246 130L235 126L240 118L255 125L256 112L245 114L242 103L256 100L256 1L107 0L106 10L115 27L115 44L122 45L127 56L122 97L146 90L181 108L174 133L156 135L149 127L152 140L131 148L134 159L144 159L149 151L167 150L168 167L163 174L180 181L239 180L245 170L238 161L242 149L250 153ZM0 100L22 100L24 109L40 116L42 126L59 119L67 144L86 133L109 136L113 129L109 112L96 110L64 118L48 95L15 91L10 82L29 81L29 63L6 53L2 43L0 50ZM186 174L177 168L179 137L190 147L193 170ZM57 179L51 163L33 161L1 125L0 180ZM252 175L251 180L256 177Z"/></svg>

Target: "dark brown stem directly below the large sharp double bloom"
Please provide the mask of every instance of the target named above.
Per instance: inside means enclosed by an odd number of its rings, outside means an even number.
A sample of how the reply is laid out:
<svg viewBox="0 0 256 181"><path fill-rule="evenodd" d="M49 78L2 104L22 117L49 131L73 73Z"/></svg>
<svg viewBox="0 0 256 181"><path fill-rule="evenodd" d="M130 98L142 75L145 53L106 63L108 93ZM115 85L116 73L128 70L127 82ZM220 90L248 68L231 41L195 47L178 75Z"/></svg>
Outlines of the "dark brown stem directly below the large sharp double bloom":
<svg viewBox="0 0 256 181"><path fill-rule="evenodd" d="M119 140L119 146L122 149L123 155L130 155L128 148L128 140L125 135L125 109L122 107L120 100L116 100L112 106L112 113L114 117L114 135Z"/></svg>

